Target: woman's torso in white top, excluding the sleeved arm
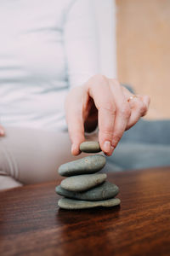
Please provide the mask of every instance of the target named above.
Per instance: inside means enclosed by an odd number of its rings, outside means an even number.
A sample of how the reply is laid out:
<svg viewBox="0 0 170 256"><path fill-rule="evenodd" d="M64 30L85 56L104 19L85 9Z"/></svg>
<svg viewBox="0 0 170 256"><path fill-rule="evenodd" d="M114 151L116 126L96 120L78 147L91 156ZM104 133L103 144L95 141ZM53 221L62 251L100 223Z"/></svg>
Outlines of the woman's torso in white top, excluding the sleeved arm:
<svg viewBox="0 0 170 256"><path fill-rule="evenodd" d="M63 26L71 0L0 1L0 122L63 126Z"/></svg>

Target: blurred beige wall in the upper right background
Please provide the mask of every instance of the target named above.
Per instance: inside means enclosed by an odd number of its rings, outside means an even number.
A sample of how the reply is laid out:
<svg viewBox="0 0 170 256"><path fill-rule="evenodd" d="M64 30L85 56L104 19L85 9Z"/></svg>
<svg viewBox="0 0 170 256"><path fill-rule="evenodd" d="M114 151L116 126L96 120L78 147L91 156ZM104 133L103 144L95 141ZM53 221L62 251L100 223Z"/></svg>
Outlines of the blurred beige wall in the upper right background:
<svg viewBox="0 0 170 256"><path fill-rule="evenodd" d="M149 119L170 118L170 0L116 0L117 69L151 97Z"/></svg>

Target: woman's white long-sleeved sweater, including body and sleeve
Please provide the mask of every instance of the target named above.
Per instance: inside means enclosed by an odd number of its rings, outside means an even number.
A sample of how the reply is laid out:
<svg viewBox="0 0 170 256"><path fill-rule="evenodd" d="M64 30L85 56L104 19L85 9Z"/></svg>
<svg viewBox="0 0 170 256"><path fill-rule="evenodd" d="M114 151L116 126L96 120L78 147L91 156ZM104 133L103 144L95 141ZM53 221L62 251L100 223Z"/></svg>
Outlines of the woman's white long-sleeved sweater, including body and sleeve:
<svg viewBox="0 0 170 256"><path fill-rule="evenodd" d="M0 1L2 125L65 129L65 95L98 63L91 0Z"/></svg>

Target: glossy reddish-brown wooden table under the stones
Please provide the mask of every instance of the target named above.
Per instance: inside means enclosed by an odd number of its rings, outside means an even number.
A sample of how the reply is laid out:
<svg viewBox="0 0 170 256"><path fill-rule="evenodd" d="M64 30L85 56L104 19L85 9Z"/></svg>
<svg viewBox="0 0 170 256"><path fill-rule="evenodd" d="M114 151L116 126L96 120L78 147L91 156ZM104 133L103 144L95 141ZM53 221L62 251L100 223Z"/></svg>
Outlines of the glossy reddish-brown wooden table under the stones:
<svg viewBox="0 0 170 256"><path fill-rule="evenodd" d="M121 207L66 211L53 183L0 193L0 255L170 255L170 167L108 175Z"/></svg>

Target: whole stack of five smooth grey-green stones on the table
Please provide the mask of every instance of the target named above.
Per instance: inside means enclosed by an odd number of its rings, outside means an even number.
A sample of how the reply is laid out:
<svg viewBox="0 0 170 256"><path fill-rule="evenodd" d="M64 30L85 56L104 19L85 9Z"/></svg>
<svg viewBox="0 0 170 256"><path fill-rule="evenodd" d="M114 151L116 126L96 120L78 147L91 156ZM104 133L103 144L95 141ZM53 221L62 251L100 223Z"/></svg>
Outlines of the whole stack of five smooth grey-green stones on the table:
<svg viewBox="0 0 170 256"><path fill-rule="evenodd" d="M80 145L85 153L101 151L99 143L85 142ZM74 210L92 207L114 207L120 204L115 198L119 189L106 181L107 175L99 172L105 166L105 156L93 154L59 166L59 174L66 177L55 191L64 196L59 199L61 208Z"/></svg>

